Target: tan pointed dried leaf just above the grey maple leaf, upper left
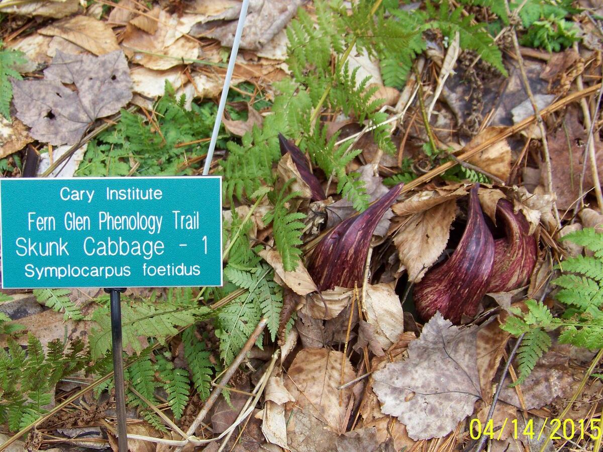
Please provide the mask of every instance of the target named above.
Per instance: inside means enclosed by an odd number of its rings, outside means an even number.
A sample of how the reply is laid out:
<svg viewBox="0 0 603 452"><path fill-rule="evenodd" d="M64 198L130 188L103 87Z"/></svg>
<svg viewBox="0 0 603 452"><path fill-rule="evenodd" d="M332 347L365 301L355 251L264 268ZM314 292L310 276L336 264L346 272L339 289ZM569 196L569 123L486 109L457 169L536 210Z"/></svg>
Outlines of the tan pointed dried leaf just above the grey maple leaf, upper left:
<svg viewBox="0 0 603 452"><path fill-rule="evenodd" d="M39 30L46 36L60 36L95 55L119 50L113 30L101 20L89 16L74 16L59 20Z"/></svg>

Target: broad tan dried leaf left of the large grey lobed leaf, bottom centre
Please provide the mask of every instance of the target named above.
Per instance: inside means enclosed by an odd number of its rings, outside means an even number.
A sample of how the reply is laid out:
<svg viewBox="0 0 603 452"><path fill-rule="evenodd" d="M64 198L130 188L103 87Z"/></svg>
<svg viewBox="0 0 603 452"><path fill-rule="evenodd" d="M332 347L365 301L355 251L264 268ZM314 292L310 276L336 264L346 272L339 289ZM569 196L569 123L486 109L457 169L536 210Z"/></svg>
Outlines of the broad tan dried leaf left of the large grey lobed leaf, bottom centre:
<svg viewBox="0 0 603 452"><path fill-rule="evenodd" d="M285 388L295 398L295 406L309 410L333 432L343 433L352 388L337 388L355 377L354 369L343 353L305 348L291 363Z"/></svg>

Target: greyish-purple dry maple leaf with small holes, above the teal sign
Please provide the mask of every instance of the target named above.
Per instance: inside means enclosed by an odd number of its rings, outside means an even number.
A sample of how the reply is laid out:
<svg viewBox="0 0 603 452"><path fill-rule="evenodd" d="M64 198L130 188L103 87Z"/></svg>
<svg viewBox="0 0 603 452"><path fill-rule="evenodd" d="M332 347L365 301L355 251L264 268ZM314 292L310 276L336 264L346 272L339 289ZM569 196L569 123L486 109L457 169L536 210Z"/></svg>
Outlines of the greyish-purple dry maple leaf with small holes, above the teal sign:
<svg viewBox="0 0 603 452"><path fill-rule="evenodd" d="M117 113L132 98L122 51L100 57L57 51L44 76L12 81L17 118L31 127L31 136L40 142L77 143L90 123Z"/></svg>

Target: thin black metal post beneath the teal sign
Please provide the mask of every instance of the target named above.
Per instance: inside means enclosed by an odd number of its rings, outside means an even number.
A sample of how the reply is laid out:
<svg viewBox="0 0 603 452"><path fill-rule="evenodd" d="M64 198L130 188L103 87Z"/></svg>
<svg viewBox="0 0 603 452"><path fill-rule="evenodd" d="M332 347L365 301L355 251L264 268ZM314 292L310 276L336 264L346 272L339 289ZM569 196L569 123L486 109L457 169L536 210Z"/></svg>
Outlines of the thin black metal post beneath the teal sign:
<svg viewBox="0 0 603 452"><path fill-rule="evenodd" d="M128 450L125 417L124 357L121 334L121 294L125 289L105 289L111 301L111 345L113 349L113 383L115 385L115 413L119 450Z"/></svg>

